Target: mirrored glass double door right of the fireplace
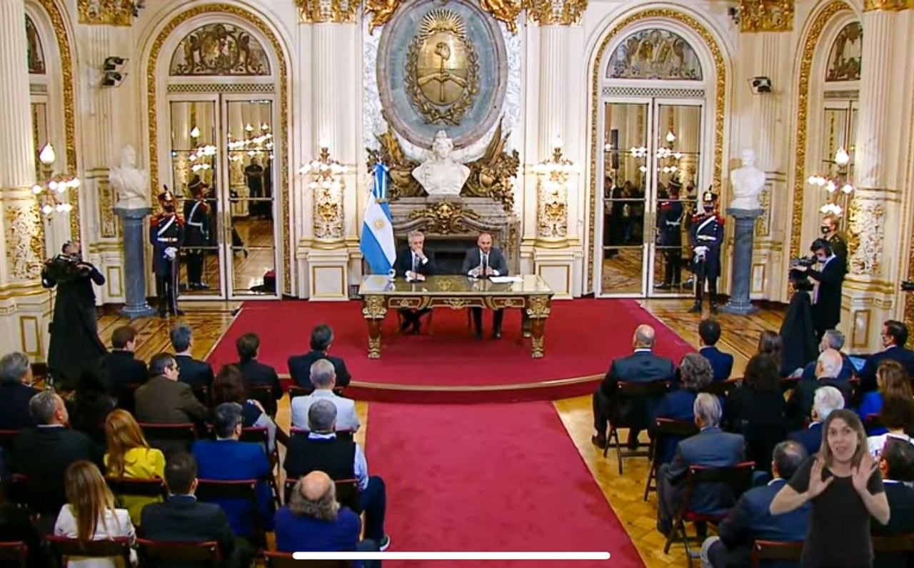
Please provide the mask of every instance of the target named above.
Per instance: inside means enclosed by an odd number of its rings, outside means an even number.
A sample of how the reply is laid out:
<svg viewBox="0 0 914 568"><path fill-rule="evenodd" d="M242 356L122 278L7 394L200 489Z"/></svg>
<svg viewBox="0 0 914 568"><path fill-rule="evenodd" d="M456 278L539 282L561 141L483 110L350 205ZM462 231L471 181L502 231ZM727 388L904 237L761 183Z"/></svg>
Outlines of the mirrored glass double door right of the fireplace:
<svg viewBox="0 0 914 568"><path fill-rule="evenodd" d="M704 167L702 106L608 101L602 119L600 295L690 295L688 226Z"/></svg>

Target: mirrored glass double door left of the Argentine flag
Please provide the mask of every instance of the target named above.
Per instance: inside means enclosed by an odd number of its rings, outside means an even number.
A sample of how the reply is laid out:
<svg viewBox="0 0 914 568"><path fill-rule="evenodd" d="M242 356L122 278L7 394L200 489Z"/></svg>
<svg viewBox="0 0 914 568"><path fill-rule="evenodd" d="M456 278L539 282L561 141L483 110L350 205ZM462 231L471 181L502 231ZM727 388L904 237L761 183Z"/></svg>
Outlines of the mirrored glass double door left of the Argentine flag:
<svg viewBox="0 0 914 568"><path fill-rule="evenodd" d="M169 105L182 296L277 297L273 102L212 94Z"/></svg>

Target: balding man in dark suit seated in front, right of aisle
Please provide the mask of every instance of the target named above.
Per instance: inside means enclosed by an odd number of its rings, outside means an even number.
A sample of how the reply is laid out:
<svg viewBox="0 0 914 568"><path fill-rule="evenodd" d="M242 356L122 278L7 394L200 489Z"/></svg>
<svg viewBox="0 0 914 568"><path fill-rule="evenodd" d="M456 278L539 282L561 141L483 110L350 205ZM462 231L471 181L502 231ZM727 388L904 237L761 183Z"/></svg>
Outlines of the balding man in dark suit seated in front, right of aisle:
<svg viewBox="0 0 914 568"><path fill-rule="evenodd" d="M670 359L654 355L654 327L638 326L634 331L632 355L615 359L610 370L593 393L593 428L597 431L590 441L600 448L606 447L606 428L610 422L612 405L615 403L616 385L624 382L653 382L654 380L673 380L675 365ZM638 444L638 434L651 425L654 409L660 402L656 400L631 401L622 409L620 415L625 423L638 424L629 430L628 445Z"/></svg>

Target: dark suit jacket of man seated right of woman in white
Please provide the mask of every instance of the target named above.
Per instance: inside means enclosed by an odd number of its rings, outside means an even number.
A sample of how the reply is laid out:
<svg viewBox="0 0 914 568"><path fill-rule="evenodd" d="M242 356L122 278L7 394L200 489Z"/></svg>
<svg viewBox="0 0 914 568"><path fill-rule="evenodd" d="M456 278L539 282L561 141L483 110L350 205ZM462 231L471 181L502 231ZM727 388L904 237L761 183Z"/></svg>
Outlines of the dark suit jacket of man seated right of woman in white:
<svg viewBox="0 0 914 568"><path fill-rule="evenodd" d="M143 507L142 523L138 529L144 539L151 541L217 541L222 558L235 549L228 517L221 507L213 503L201 503L192 495L172 495L163 503L152 503ZM143 563L143 566L162 568L197 568L205 563Z"/></svg>

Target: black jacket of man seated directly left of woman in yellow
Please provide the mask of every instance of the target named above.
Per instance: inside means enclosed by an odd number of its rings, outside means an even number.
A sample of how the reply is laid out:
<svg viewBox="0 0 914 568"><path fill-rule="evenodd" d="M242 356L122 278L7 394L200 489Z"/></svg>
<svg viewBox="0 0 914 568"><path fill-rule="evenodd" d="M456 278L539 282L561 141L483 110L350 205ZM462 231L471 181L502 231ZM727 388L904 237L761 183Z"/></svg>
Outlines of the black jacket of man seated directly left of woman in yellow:
<svg viewBox="0 0 914 568"><path fill-rule="evenodd" d="M63 485L67 468L82 459L105 470L101 448L86 434L63 426L27 428L13 443L13 468L27 477L29 503L51 517L67 503Z"/></svg>

